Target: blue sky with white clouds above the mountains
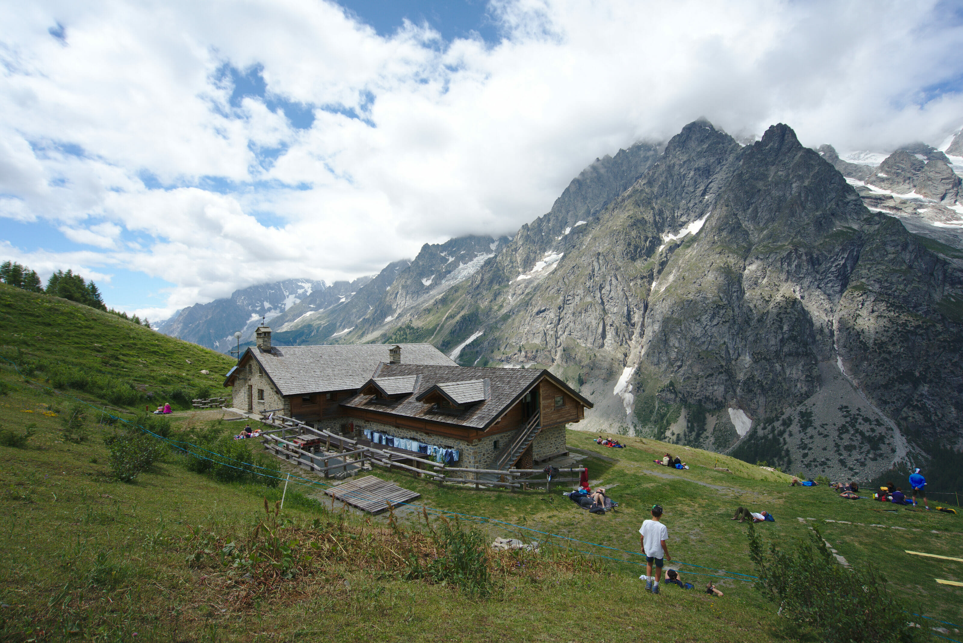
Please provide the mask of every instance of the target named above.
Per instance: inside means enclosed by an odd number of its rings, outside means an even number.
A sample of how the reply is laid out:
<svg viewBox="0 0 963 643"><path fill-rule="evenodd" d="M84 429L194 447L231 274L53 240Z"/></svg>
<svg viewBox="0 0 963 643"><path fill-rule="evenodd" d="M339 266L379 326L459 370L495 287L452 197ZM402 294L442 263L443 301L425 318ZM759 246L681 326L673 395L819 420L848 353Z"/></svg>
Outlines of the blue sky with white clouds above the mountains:
<svg viewBox="0 0 963 643"><path fill-rule="evenodd" d="M699 116L938 144L961 51L926 0L0 0L0 260L164 319L511 234Z"/></svg>

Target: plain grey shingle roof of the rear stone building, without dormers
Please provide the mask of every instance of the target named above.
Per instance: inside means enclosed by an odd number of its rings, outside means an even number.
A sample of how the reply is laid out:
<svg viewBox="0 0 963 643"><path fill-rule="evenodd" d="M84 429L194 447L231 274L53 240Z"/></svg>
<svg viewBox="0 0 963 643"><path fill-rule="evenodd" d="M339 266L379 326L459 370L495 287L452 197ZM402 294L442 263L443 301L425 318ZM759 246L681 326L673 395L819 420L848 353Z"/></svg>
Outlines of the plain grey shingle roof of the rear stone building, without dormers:
<svg viewBox="0 0 963 643"><path fill-rule="evenodd" d="M273 347L270 351L247 348L240 366L253 359L271 378L282 396L350 391L360 388L388 362L393 345ZM402 344L402 365L434 365L457 369L458 365L430 344ZM400 365L400 366L402 366ZM380 373L379 377L388 373ZM224 386L234 383L230 373Z"/></svg>

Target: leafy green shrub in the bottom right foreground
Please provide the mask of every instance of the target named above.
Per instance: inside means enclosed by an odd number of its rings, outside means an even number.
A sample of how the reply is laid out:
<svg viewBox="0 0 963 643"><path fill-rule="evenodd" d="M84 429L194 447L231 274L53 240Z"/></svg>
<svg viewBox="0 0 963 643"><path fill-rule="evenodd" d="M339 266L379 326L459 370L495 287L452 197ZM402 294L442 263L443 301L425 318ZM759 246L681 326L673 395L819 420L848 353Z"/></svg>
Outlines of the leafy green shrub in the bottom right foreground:
<svg viewBox="0 0 963 643"><path fill-rule="evenodd" d="M778 605L796 635L810 633L826 643L897 643L920 640L903 605L874 567L846 569L826 548L819 530L794 549L768 551L749 525L749 556L756 564L755 587Z"/></svg>

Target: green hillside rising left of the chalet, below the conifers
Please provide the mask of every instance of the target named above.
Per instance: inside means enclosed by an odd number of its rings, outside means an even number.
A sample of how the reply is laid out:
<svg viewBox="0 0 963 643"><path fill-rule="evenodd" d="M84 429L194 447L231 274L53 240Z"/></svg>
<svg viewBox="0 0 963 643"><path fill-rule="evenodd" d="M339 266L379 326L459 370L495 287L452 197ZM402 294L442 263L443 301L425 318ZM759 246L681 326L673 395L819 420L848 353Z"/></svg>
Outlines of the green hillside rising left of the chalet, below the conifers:
<svg viewBox="0 0 963 643"><path fill-rule="evenodd" d="M223 374L235 363L89 306L2 284L0 355L55 388L128 408L189 407L199 394L221 396Z"/></svg>

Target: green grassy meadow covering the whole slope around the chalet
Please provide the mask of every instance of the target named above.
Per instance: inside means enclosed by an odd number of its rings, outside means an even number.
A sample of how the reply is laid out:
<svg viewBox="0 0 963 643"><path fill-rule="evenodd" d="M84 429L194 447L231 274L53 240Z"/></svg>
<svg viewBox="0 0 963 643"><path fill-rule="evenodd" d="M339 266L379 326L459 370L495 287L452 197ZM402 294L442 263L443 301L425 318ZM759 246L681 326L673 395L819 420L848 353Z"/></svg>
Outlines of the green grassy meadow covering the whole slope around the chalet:
<svg viewBox="0 0 963 643"><path fill-rule="evenodd" d="M0 360L0 435L10 436L0 445L0 640L815 640L788 627L746 581L755 574L748 527L730 520L741 505L775 516L756 528L782 548L819 529L849 565L872 563L910 611L936 619L907 614L921 633L942 627L963 640L958 626L937 622L963 623L963 587L935 580L963 580L963 563L905 553L963 557L961 516L848 501L824 486L791 487L789 476L647 439L619 437L628 448L612 450L594 434L568 432L573 453L587 455L594 486L619 503L606 515L580 509L562 488L474 490L376 468L371 475L421 498L372 518L330 502L324 489L333 480L280 461L292 474L286 492L273 478L223 482L194 473L188 456L167 447L133 482L119 482L104 438L122 429L98 424L91 409L83 439L65 433L74 399L132 417L148 392L157 399L206 386L217 395L231 360L70 302L11 291L0 287L0 350L21 370ZM89 377L54 386L58 368ZM101 397L119 386L143 397ZM170 436L227 435L237 426L217 412L184 411ZM666 451L690 469L656 465ZM666 567L694 590L663 586L654 596L638 579L638 527L654 503L664 506L669 529ZM485 590L468 592L451 570L445 579L425 572L455 559L439 545L446 522L476 529L484 544L501 536L541 548L488 551ZM704 593L710 580L723 597Z"/></svg>

